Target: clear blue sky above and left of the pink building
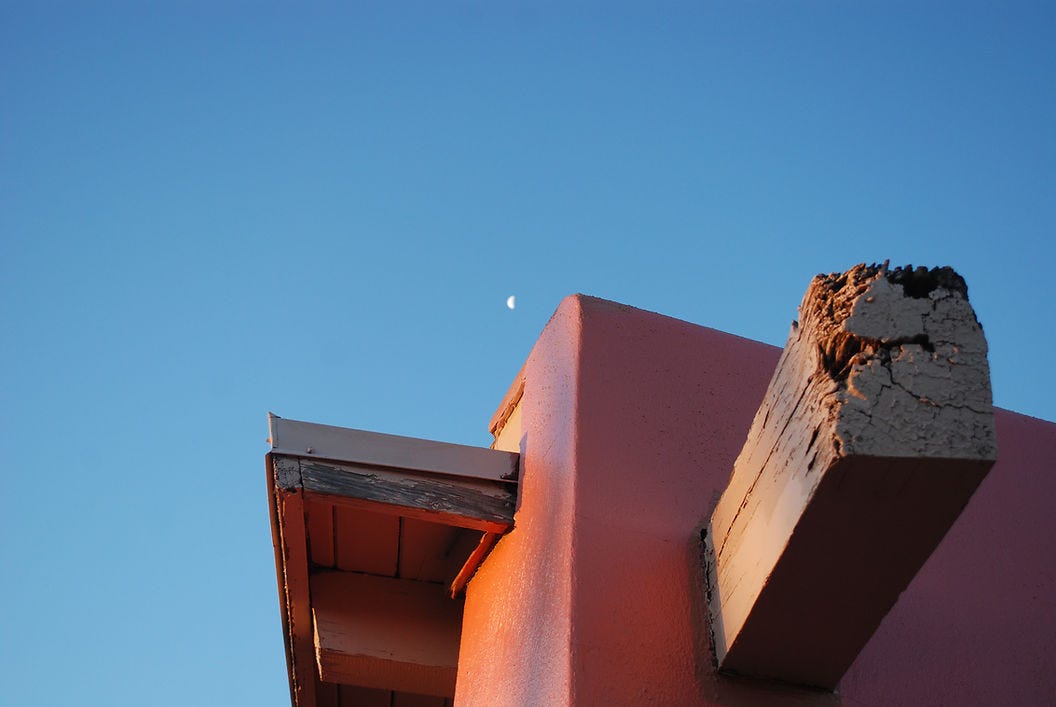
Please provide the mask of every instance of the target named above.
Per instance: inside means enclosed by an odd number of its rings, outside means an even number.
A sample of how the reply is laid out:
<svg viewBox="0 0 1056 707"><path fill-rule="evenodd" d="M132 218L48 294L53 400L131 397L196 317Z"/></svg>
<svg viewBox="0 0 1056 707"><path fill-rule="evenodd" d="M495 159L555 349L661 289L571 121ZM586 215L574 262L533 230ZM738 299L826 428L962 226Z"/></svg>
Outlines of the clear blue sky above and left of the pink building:
<svg viewBox="0 0 1056 707"><path fill-rule="evenodd" d="M265 413L486 445L572 292L951 265L1056 420L1054 235L1052 3L3 2L0 703L288 704Z"/></svg>

